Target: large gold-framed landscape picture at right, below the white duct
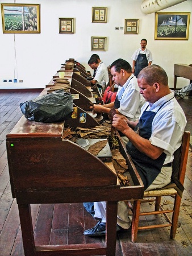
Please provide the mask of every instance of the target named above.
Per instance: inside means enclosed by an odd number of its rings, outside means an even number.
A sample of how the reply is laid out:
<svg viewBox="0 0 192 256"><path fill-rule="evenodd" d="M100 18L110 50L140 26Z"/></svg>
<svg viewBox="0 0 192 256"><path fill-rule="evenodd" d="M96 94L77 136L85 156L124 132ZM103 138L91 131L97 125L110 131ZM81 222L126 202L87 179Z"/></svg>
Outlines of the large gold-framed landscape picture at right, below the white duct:
<svg viewBox="0 0 192 256"><path fill-rule="evenodd" d="M188 40L190 13L156 13L155 40Z"/></svg>

